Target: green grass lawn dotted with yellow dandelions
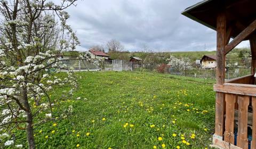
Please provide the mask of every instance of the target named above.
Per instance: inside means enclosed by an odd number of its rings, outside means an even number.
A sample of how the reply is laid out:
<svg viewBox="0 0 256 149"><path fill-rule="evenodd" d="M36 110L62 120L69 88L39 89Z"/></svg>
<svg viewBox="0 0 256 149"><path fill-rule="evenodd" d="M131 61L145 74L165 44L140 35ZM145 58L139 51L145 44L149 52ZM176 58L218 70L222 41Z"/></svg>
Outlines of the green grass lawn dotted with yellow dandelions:
<svg viewBox="0 0 256 149"><path fill-rule="evenodd" d="M79 148L205 148L211 144L214 81L146 72L77 74L82 78L74 98L59 103L62 109L72 105L72 114L63 116L53 106L58 118L35 126L38 148L77 148L77 144ZM58 99L67 88L55 90L52 97ZM26 146L25 131L16 131L17 144Z"/></svg>

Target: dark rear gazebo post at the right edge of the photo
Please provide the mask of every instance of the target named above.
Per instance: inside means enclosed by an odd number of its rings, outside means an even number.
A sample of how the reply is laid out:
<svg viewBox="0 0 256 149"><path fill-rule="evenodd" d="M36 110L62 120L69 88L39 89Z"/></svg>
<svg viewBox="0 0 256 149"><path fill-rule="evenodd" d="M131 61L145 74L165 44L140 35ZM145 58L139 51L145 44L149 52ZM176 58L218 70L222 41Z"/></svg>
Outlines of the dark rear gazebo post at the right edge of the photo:
<svg viewBox="0 0 256 149"><path fill-rule="evenodd" d="M256 35L252 35L250 38L250 46L252 53L252 63L251 63L251 74L255 74L256 68Z"/></svg>

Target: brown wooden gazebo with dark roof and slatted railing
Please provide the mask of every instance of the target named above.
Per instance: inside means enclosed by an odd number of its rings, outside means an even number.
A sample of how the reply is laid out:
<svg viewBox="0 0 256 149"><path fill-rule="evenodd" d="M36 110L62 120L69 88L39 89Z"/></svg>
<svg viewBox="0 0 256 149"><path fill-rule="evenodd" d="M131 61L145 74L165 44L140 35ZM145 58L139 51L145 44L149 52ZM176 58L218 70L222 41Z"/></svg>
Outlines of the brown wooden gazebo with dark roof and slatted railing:
<svg viewBox="0 0 256 149"><path fill-rule="evenodd" d="M205 0L183 15L217 31L217 83L213 145L256 148L256 0ZM230 41L230 38L233 40ZM225 57L243 40L250 40L251 74L225 81ZM252 128L249 141L247 129Z"/></svg>

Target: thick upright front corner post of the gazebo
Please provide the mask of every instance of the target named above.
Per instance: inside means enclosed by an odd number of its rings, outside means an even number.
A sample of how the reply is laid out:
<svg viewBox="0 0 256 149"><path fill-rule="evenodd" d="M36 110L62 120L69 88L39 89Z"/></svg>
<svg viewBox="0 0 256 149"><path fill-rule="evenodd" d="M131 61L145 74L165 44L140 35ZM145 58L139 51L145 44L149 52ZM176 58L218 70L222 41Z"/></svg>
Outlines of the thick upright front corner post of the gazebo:
<svg viewBox="0 0 256 149"><path fill-rule="evenodd" d="M225 46L226 46L226 14L220 12L217 16L217 84L225 82ZM223 137L225 94L216 93L215 103L215 136Z"/></svg>

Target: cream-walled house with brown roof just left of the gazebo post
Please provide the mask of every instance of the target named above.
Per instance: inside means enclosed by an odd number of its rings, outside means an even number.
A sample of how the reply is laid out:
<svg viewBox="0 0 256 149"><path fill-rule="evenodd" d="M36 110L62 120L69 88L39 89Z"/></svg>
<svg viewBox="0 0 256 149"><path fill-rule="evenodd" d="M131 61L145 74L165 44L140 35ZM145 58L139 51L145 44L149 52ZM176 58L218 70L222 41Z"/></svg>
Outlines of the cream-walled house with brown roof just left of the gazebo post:
<svg viewBox="0 0 256 149"><path fill-rule="evenodd" d="M213 69L216 67L217 56L215 55L204 55L201 59L201 66L204 69Z"/></svg>

